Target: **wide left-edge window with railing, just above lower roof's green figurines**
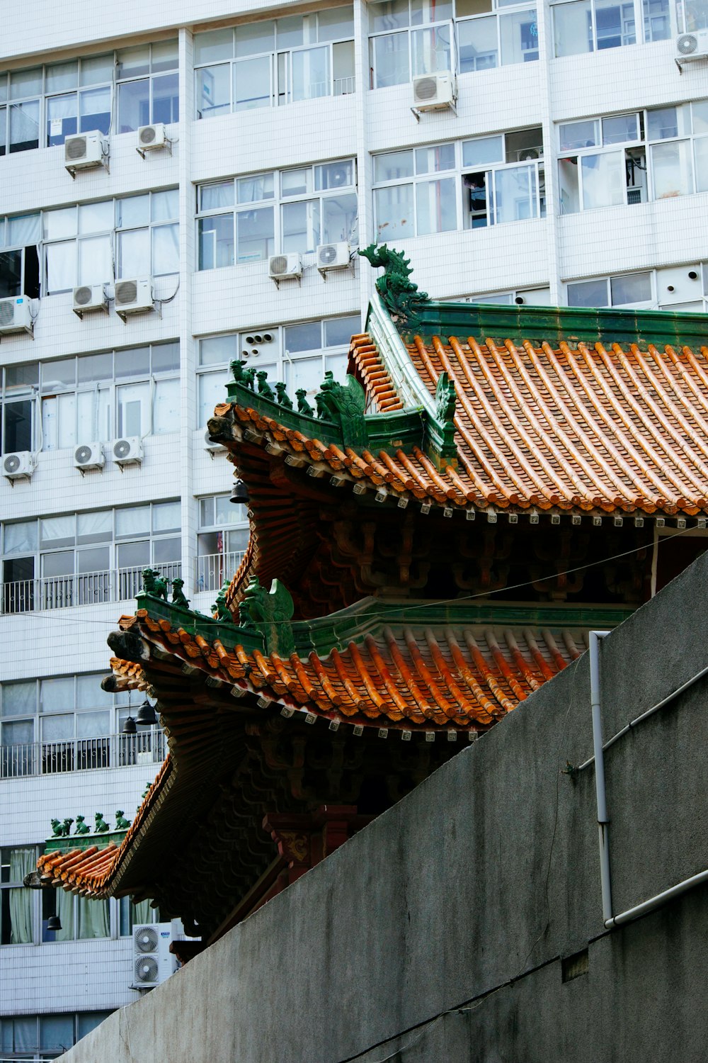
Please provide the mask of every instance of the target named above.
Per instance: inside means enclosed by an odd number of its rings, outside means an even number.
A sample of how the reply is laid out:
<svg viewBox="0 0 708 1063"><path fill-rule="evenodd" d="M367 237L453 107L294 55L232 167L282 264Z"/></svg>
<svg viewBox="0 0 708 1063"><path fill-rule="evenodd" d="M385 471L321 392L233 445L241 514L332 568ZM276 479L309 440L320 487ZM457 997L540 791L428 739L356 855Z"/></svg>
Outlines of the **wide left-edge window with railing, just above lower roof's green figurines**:
<svg viewBox="0 0 708 1063"><path fill-rule="evenodd" d="M2 528L2 611L122 602L141 589L145 566L180 574L179 503L154 502Z"/></svg>

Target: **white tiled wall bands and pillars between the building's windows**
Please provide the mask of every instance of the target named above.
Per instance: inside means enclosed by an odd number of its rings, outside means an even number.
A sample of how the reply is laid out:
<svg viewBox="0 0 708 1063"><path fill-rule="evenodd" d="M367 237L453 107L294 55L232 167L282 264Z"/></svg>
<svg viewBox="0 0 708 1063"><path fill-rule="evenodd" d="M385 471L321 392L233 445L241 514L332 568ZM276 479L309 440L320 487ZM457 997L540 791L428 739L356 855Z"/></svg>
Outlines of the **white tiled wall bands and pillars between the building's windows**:
<svg viewBox="0 0 708 1063"><path fill-rule="evenodd" d="M197 499L228 491L232 470L223 454L204 450L204 429L197 427L196 340L356 314L365 309L374 273L357 260L351 272L331 273L325 282L316 269L307 268L301 284L277 289L266 261L196 272L197 183L356 158L360 244L365 246L374 237L372 153L540 125L547 217L391 241L405 250L414 280L433 298L549 288L551 301L563 302L568 280L708 257L708 192L563 217L557 210L555 122L708 99L708 63L689 65L681 74L673 39L556 60L549 41L550 7L541 3L540 61L460 75L456 114L428 113L417 120L405 84L194 121L193 31L249 14L271 17L300 10L307 6L264 0L127 0L120 6L74 0L57 17L54 2L35 0L21 18L3 26L0 39L2 71L178 33L180 119L168 128L175 141L172 154L155 152L143 159L135 150L135 133L116 134L110 172L80 172L75 181L64 167L63 147L0 158L0 216L178 187L178 286L174 276L156 280L158 299L174 296L162 304L161 316L135 316L123 324L111 309L80 321L70 294L49 296L34 304L33 339L3 336L0 343L0 367L8 367L179 340L174 432L144 438L142 465L122 472L107 460L102 472L82 477L71 449L38 453L30 482L13 487L0 477L0 522L178 497L185 591L201 609L208 608L213 591L196 593L192 586ZM358 86L368 80L366 26L366 3L355 0ZM306 256L306 265L312 258ZM107 671L106 635L131 608L129 602L106 602L0 614L0 682ZM79 811L92 816L99 808L109 816L124 808L129 817L152 775L154 767L141 766L0 779L0 848L41 843L52 816ZM126 940L0 947L0 1017L108 1010L135 998L129 982Z"/></svg>

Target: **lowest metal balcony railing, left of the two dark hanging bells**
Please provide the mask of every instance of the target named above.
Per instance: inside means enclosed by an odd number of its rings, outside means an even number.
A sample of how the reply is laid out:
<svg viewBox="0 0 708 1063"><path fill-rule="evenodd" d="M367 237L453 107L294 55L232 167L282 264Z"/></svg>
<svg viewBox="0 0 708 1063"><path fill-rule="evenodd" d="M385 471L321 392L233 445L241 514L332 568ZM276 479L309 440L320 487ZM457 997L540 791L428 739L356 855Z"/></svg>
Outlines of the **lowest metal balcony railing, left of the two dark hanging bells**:
<svg viewBox="0 0 708 1063"><path fill-rule="evenodd" d="M167 754L162 731L103 735L64 742L28 742L0 746L0 778L87 772L97 767L161 764Z"/></svg>

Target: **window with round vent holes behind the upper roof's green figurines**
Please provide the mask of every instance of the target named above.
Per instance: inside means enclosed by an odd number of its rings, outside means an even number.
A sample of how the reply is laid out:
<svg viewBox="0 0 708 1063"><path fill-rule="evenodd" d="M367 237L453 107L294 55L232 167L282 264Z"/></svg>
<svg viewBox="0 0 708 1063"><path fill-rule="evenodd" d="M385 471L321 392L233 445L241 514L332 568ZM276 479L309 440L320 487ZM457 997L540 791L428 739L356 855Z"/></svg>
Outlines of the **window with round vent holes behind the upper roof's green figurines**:
<svg viewBox="0 0 708 1063"><path fill-rule="evenodd" d="M224 401L229 361L239 358L258 370L264 369L269 379L283 381L293 405L296 405L295 392L305 388L311 401L327 370L331 370L336 378L344 378L349 340L360 327L361 319L355 314L200 340L200 426L206 426L209 418L213 417L214 406Z"/></svg>

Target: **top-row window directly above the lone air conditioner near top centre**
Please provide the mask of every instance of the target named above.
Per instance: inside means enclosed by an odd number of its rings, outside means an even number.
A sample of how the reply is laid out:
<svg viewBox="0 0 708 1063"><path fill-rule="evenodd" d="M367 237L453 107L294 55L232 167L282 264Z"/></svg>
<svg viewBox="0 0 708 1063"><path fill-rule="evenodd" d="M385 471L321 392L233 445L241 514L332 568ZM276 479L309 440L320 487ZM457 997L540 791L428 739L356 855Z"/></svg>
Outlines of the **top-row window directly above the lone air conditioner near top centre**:
<svg viewBox="0 0 708 1063"><path fill-rule="evenodd" d="M457 56L460 73L538 58L536 9L528 3L377 0L368 20L370 88L455 70Z"/></svg>

